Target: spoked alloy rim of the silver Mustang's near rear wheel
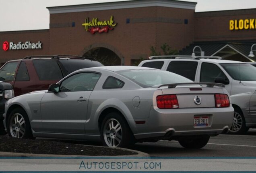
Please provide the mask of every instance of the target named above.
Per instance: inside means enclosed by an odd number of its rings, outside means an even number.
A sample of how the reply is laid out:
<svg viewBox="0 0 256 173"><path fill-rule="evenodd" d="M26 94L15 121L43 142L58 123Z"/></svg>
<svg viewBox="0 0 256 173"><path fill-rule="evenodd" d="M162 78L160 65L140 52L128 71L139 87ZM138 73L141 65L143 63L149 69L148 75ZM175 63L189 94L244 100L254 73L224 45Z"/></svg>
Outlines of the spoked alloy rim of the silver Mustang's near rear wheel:
<svg viewBox="0 0 256 173"><path fill-rule="evenodd" d="M103 137L109 147L118 147L122 140L122 127L116 119L109 119L104 125Z"/></svg>

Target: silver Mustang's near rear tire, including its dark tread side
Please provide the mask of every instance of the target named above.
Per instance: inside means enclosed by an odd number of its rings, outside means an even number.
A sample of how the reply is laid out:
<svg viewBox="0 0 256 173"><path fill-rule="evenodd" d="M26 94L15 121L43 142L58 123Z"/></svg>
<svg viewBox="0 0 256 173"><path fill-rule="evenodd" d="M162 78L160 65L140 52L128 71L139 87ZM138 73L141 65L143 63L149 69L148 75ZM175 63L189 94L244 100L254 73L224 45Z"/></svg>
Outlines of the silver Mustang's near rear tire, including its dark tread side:
<svg viewBox="0 0 256 173"><path fill-rule="evenodd" d="M109 123L111 124L112 122L113 126L116 128L112 126L110 128ZM119 126L121 129L119 129ZM107 133L108 131L109 133ZM122 115L116 112L106 115L102 121L100 133L101 141L104 146L125 148L134 144L134 136L132 135L132 131L130 130L128 123Z"/></svg>

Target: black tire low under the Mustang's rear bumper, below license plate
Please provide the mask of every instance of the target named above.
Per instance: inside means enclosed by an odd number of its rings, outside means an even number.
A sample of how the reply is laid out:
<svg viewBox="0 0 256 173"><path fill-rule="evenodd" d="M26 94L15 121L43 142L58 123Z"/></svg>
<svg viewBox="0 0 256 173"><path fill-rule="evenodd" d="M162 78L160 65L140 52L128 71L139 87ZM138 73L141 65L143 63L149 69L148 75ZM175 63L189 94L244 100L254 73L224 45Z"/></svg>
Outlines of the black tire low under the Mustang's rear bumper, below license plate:
<svg viewBox="0 0 256 173"><path fill-rule="evenodd" d="M200 149L208 143L209 139L209 135L202 135L197 137L182 138L179 140L179 143L184 148Z"/></svg>

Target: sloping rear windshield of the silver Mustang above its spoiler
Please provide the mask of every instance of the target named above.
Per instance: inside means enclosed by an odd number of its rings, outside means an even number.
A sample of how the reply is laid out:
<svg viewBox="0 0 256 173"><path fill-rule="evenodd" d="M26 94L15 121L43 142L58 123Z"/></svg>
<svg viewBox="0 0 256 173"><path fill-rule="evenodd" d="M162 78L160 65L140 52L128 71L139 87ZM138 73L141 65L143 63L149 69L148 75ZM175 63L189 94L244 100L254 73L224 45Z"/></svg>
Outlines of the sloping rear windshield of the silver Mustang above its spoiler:
<svg viewBox="0 0 256 173"><path fill-rule="evenodd" d="M180 76L168 71L151 70L151 69L138 69L138 70L123 70L118 71L118 74L129 78L141 87L147 88L158 84L173 84L194 82L188 78Z"/></svg>

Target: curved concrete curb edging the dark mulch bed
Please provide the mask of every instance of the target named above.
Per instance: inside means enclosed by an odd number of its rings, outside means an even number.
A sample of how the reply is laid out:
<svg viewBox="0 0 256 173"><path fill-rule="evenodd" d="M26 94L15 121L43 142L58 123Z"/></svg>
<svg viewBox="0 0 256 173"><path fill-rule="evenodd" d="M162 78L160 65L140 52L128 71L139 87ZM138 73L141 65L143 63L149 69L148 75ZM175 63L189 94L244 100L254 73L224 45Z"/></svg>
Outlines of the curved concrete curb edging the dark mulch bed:
<svg viewBox="0 0 256 173"><path fill-rule="evenodd" d="M91 145L85 145L85 146L91 146ZM95 146L93 146L95 147ZM97 146L101 147L101 146ZM103 147L103 148L109 148L109 147ZM134 153L138 153L137 155L116 155L116 156L107 156L107 155L102 155L102 156L90 156L90 155L49 155L49 154L30 154L30 153L10 153L10 152L0 152L0 157L72 157L72 158L79 158L79 157L90 157L90 158L110 158L110 157L132 157L132 158L150 158L150 155L148 153L143 153L141 151L136 151L132 149L125 149L125 148L114 148L116 150L126 150L126 151L131 151Z"/></svg>

